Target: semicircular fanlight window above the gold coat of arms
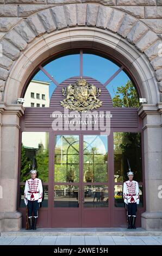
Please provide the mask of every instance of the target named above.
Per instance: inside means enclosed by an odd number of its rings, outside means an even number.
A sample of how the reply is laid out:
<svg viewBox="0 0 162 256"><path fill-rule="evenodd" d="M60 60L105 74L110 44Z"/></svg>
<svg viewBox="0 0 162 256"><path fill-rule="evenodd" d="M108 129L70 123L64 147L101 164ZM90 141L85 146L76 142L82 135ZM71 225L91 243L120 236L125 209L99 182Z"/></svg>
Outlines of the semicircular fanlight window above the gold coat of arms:
<svg viewBox="0 0 162 256"><path fill-rule="evenodd" d="M24 93L24 107L49 107L55 88L70 77L92 77L110 93L114 107L139 107L139 95L124 66L103 54L78 50L39 65Z"/></svg>

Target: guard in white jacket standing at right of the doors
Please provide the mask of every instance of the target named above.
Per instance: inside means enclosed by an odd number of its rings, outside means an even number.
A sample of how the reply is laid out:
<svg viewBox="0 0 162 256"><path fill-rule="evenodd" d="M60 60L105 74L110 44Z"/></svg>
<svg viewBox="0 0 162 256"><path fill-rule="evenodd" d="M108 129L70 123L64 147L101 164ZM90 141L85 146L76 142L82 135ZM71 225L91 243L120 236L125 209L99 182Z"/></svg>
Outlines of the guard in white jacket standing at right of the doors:
<svg viewBox="0 0 162 256"><path fill-rule="evenodd" d="M127 175L129 180L124 182L123 198L127 207L128 229L135 229L137 204L140 202L139 185L137 181L133 180L133 172L128 172Z"/></svg>

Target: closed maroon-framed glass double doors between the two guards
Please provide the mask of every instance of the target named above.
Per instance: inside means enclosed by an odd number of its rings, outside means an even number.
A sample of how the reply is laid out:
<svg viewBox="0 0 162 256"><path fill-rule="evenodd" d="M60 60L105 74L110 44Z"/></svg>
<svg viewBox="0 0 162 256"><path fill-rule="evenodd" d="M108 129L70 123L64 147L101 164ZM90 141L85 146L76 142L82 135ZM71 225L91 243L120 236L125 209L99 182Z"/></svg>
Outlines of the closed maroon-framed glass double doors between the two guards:
<svg viewBox="0 0 162 256"><path fill-rule="evenodd" d="M54 136L53 227L108 227L108 137Z"/></svg>

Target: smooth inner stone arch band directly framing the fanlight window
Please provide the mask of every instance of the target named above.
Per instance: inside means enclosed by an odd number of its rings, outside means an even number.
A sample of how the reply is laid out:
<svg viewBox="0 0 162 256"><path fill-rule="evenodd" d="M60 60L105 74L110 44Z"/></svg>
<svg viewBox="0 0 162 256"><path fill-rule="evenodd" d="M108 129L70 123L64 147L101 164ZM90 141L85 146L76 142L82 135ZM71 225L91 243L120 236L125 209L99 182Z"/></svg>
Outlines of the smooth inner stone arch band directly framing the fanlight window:
<svg viewBox="0 0 162 256"><path fill-rule="evenodd" d="M44 59L59 51L76 47L102 49L102 51L109 53L112 57L122 59L124 65L132 72L136 84L139 85L141 96L145 97L148 103L159 101L159 94L156 88L157 83L145 56L141 56L136 48L132 47L119 35L108 31L101 31L101 29L97 28L85 27L83 29L79 27L63 29L43 35L28 46L17 60L17 65L10 72L5 87L5 102L16 102L17 98L21 95L24 82L27 81L31 72ZM151 93L152 90L154 94Z"/></svg>

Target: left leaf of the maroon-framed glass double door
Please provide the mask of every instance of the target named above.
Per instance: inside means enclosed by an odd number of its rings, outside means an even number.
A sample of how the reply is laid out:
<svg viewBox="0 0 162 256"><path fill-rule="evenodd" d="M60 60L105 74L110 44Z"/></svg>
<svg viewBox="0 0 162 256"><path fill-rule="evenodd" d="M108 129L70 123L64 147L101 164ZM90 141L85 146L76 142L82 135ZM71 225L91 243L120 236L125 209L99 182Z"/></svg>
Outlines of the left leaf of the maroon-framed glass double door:
<svg viewBox="0 0 162 256"><path fill-rule="evenodd" d="M53 227L79 227L79 135L54 136Z"/></svg>

